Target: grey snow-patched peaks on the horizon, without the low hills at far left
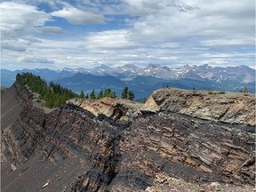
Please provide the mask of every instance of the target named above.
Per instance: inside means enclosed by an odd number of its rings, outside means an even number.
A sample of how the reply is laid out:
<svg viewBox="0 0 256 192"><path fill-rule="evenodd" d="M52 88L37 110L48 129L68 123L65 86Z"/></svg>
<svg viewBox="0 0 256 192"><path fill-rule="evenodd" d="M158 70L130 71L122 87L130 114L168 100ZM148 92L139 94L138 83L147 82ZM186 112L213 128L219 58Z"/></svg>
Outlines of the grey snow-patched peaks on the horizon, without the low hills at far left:
<svg viewBox="0 0 256 192"><path fill-rule="evenodd" d="M166 66L149 64L146 68L139 68L133 64L126 64L118 68L110 68L106 65L95 68L61 68L59 72L68 71L72 73L92 74L95 76L154 76L162 79L208 79L216 82L237 81L239 83L252 83L255 81L255 70L247 66L238 67L211 67L207 64L203 66L188 66L181 68L168 68Z"/></svg>

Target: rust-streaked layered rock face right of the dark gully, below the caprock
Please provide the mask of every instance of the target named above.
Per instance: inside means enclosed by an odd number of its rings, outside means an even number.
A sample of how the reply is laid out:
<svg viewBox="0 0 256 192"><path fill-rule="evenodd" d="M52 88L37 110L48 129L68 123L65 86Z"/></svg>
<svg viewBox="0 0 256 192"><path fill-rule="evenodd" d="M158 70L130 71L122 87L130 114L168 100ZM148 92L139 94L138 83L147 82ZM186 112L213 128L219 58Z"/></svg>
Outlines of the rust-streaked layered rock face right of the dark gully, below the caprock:
<svg viewBox="0 0 256 192"><path fill-rule="evenodd" d="M152 177L164 172L193 181L254 182L255 148L250 133L226 124L159 113L138 119L132 124L132 134L127 144L133 143L141 153L137 166L148 173L154 170Z"/></svg>

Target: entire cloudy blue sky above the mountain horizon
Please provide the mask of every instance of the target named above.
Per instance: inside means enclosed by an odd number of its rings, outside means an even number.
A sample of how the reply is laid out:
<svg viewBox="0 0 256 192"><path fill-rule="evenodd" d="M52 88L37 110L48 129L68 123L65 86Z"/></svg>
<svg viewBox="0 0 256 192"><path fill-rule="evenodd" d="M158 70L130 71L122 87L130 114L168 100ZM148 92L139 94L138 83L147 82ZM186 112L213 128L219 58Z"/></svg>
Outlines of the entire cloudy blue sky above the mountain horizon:
<svg viewBox="0 0 256 192"><path fill-rule="evenodd" d="M255 68L254 0L0 3L1 68Z"/></svg>

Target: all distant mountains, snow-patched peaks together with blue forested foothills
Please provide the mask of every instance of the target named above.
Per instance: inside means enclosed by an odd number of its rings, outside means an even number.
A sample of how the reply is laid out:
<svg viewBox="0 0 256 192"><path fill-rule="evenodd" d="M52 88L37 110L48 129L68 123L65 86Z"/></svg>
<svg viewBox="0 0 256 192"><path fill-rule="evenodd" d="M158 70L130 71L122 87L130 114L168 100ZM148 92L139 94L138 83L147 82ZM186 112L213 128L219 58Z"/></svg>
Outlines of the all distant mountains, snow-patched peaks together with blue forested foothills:
<svg viewBox="0 0 256 192"><path fill-rule="evenodd" d="M166 66L149 64L139 68L133 64L126 64L118 68L107 65L95 68L60 68L57 71L42 69L22 69L10 71L1 69L1 85L11 86L17 73L31 72L42 76L46 81L54 81L72 89L75 92L91 92L112 88L117 94L124 86L128 86L137 99L148 97L156 89L170 86L182 89L204 89L240 92L247 86L249 92L255 92L255 70L247 66L211 67L188 66L168 68Z"/></svg>

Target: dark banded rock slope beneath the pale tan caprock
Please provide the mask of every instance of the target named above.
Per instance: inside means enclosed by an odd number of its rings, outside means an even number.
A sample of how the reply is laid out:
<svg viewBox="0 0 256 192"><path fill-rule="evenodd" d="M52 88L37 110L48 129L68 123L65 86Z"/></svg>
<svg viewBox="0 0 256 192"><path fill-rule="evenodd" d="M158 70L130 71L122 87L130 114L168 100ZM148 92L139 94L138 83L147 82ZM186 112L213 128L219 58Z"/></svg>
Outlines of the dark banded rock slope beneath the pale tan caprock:
<svg viewBox="0 0 256 192"><path fill-rule="evenodd" d="M37 191L140 191L170 178L254 184L255 135L245 125L168 110L144 110L132 123L119 124L73 104L44 114L32 105L28 90L18 92L20 117L2 135L2 164L13 170L4 177L20 172L35 156L39 162L55 164L48 181L35 184ZM68 174L65 162L77 172ZM22 180L20 174L17 180ZM4 181L3 191L13 190L11 184L15 186L15 180Z"/></svg>

